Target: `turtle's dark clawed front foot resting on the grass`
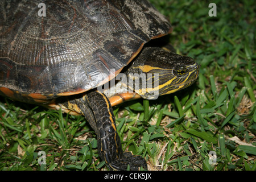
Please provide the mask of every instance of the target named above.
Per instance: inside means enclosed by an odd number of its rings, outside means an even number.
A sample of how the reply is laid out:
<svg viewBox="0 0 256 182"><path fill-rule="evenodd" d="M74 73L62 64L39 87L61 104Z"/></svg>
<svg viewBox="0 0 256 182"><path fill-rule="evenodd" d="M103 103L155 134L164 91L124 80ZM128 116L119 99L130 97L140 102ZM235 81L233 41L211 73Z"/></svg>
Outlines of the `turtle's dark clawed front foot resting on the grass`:
<svg viewBox="0 0 256 182"><path fill-rule="evenodd" d="M131 152L123 153L122 158L109 164L110 168L118 171L127 171L128 165L130 171L139 171L141 167L147 170L146 160L139 155L132 155Z"/></svg>

